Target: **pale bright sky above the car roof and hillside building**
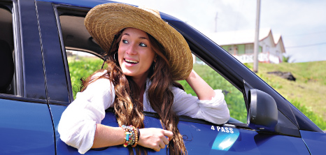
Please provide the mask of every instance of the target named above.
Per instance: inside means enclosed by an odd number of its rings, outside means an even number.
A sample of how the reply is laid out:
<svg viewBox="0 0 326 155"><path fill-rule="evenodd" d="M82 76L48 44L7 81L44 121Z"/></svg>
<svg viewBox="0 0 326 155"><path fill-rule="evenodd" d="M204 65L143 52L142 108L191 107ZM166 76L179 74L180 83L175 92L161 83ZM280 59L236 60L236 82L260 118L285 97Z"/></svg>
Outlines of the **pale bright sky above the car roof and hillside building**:
<svg viewBox="0 0 326 155"><path fill-rule="evenodd" d="M255 29L257 0L116 1L155 8L203 34ZM289 62L326 61L325 0L260 0L260 28L281 34Z"/></svg>

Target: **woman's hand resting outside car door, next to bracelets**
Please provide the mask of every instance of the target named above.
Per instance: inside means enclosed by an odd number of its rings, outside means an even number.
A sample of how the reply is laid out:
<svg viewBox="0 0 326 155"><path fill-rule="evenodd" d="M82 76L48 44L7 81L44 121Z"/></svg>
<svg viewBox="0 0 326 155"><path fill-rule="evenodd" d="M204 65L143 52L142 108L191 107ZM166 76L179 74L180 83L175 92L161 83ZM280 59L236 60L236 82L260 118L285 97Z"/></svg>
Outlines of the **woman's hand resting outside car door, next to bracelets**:
<svg viewBox="0 0 326 155"><path fill-rule="evenodd" d="M161 128L139 128L139 133L141 136L139 137L138 145L154 149L156 152L164 149L165 145L168 145L173 138L171 131Z"/></svg>

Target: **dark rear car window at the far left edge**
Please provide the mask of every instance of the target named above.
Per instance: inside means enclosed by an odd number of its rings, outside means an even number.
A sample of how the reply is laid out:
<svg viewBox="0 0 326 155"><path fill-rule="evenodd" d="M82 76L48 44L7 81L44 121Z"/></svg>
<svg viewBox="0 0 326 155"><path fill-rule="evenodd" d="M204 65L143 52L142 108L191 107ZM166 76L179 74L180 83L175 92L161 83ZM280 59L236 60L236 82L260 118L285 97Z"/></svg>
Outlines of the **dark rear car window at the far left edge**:
<svg viewBox="0 0 326 155"><path fill-rule="evenodd" d="M0 4L0 94L15 95L13 14L8 6Z"/></svg>

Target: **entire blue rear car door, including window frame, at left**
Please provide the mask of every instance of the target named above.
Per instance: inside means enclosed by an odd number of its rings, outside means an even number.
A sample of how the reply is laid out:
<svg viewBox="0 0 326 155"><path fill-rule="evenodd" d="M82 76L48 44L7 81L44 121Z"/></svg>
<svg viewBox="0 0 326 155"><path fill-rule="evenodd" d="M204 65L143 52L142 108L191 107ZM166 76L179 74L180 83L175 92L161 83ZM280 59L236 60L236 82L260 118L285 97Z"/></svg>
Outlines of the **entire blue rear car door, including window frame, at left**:
<svg viewBox="0 0 326 155"><path fill-rule="evenodd" d="M34 1L0 1L0 12L0 154L55 154Z"/></svg>

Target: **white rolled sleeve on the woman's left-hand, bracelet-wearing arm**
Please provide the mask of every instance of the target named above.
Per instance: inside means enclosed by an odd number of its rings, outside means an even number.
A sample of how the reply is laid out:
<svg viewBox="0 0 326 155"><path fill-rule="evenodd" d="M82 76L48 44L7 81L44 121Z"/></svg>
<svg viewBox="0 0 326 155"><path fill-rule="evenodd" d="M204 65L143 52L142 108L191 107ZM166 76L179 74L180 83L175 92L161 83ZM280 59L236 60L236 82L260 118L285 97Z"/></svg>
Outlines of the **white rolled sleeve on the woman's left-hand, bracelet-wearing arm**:
<svg viewBox="0 0 326 155"><path fill-rule="evenodd" d="M105 117L105 110L115 98L113 84L101 78L89 84L83 92L78 92L73 101L62 113L58 132L67 145L76 147L85 154L93 145L96 124Z"/></svg>

